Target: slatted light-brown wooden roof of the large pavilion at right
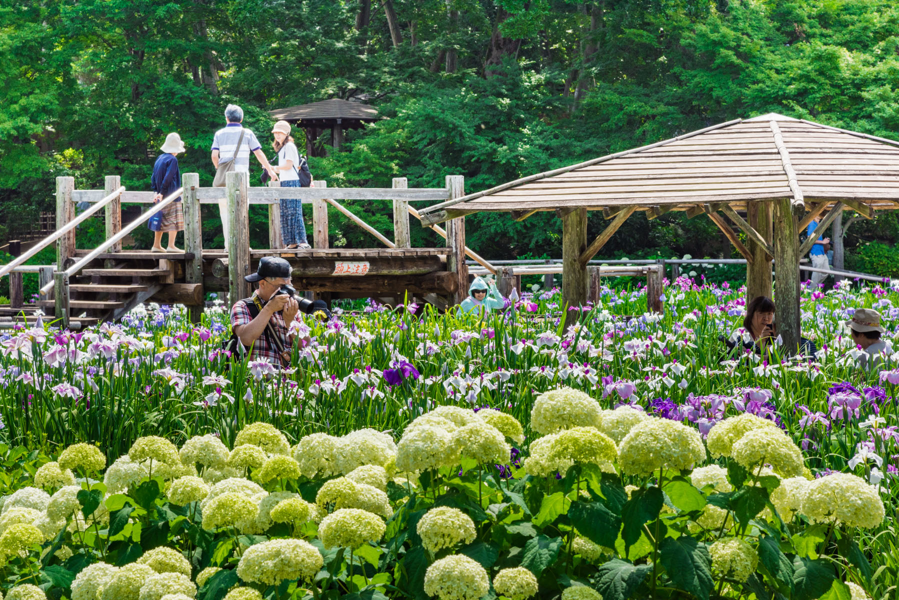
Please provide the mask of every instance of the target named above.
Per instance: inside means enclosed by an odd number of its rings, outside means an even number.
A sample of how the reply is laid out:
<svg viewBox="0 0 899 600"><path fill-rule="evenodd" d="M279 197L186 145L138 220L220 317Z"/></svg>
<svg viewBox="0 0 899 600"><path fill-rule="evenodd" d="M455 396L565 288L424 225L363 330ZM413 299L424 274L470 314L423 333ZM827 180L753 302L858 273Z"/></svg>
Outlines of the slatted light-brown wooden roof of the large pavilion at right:
<svg viewBox="0 0 899 600"><path fill-rule="evenodd" d="M634 206L661 214L722 203L744 210L746 201L785 197L863 203L866 212L899 208L899 142L770 113L530 175L421 213L430 222L482 210L526 216Z"/></svg>

